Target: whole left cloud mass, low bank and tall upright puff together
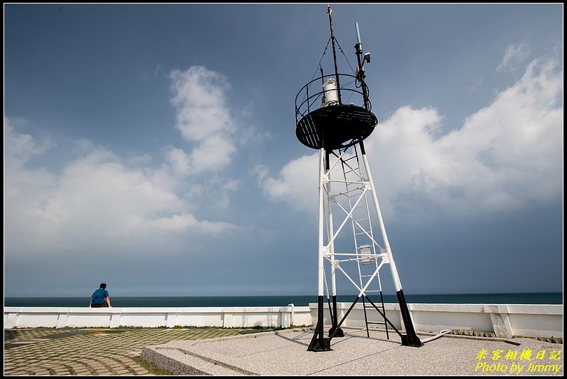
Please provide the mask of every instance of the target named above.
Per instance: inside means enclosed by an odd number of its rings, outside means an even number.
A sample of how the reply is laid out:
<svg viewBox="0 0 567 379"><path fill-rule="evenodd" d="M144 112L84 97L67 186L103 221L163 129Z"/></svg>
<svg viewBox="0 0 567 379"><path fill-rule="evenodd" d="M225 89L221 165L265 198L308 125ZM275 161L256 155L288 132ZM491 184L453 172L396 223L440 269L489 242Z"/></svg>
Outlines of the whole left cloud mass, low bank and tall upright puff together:
<svg viewBox="0 0 567 379"><path fill-rule="evenodd" d="M167 251L188 237L239 230L197 216L203 209L225 212L239 186L216 174L237 151L228 80L204 67L172 71L169 79L176 128L190 147L165 147L157 164L155 157L123 158L80 139L69 149L75 157L54 172L40 160L54 144L18 132L4 118L4 233L10 257Z"/></svg>

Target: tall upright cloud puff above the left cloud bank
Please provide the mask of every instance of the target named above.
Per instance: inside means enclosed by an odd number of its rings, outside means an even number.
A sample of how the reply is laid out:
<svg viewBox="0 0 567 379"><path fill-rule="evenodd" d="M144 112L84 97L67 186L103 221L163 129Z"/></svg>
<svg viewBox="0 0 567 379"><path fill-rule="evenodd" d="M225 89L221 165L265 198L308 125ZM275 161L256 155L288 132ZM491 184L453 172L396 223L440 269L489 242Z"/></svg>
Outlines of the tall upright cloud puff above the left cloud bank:
<svg viewBox="0 0 567 379"><path fill-rule="evenodd" d="M169 78L174 91L176 128L183 138L195 144L184 158L179 151L174 153L176 159L185 160L184 172L214 172L226 167L237 150L236 125L225 95L230 90L227 78L202 66L174 70Z"/></svg>

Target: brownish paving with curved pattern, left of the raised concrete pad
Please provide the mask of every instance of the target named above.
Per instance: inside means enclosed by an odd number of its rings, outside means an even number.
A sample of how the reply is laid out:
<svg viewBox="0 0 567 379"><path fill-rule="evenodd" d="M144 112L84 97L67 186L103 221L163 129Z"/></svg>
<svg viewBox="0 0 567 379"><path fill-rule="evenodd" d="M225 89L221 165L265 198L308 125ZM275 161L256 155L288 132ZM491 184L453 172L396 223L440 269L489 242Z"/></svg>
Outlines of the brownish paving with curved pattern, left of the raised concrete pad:
<svg viewBox="0 0 567 379"><path fill-rule="evenodd" d="M147 345L255 333L255 329L10 329L4 375L152 375L137 359Z"/></svg>

